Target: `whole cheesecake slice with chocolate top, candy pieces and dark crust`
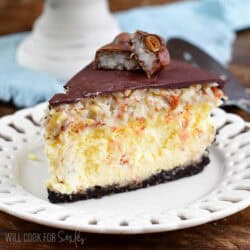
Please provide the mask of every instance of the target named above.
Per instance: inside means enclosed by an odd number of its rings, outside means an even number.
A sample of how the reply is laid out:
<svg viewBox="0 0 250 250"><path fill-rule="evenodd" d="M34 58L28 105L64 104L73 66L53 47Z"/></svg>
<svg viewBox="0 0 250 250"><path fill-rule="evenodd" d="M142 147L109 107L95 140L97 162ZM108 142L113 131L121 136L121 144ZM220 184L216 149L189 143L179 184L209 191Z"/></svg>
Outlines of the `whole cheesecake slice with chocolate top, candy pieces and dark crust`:
<svg viewBox="0 0 250 250"><path fill-rule="evenodd" d="M197 174L209 163L210 114L221 104L224 82L170 61L157 35L126 34L125 49L122 38L98 50L49 102L51 202L148 187Z"/></svg>

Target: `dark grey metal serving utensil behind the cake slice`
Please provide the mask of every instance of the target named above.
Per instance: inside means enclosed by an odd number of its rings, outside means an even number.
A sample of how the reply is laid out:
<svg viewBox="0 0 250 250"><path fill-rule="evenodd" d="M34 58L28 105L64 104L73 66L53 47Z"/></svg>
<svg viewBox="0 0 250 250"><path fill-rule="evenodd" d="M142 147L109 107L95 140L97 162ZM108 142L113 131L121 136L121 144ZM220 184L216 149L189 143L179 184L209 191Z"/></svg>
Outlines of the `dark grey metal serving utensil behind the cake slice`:
<svg viewBox="0 0 250 250"><path fill-rule="evenodd" d="M179 38L168 40L171 58L186 61L200 68L214 72L226 80L224 91L228 100L223 105L237 106L250 114L250 94L226 68L195 45Z"/></svg>

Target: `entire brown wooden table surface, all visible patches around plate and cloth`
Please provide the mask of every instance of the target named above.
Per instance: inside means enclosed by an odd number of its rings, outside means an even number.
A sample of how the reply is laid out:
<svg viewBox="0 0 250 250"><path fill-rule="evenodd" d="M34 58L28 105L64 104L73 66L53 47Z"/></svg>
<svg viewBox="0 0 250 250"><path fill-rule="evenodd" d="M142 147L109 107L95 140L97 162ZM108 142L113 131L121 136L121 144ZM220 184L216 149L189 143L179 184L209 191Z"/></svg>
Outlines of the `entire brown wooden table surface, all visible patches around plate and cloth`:
<svg viewBox="0 0 250 250"><path fill-rule="evenodd" d="M110 0L113 11L135 5L161 4L174 0ZM42 9L42 0L0 0L0 34L29 30ZM13 18L14 17L14 18ZM237 34L230 70L250 87L250 31ZM0 102L0 116L16 110L11 104ZM250 121L250 115L236 109L227 111ZM7 236L16 235L17 242L8 242ZM45 233L48 241L30 235ZM61 237L64 236L64 237ZM49 239L52 242L49 242ZM64 239L64 241L62 240ZM74 239L80 239L74 241ZM250 249L250 208L225 219L202 226L174 232L148 235L97 235L58 230L26 222L0 212L0 249Z"/></svg>

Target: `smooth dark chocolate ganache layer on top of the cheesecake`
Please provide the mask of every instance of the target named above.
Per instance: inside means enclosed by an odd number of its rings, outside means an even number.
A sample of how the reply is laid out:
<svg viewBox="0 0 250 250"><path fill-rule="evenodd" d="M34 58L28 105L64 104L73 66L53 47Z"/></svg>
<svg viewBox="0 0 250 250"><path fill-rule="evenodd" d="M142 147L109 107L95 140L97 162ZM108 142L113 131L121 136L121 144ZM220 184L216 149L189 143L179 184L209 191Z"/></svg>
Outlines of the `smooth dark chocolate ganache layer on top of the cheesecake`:
<svg viewBox="0 0 250 250"><path fill-rule="evenodd" d="M224 81L217 75L190 64L171 60L171 63L151 78L142 71L95 70L93 63L76 74L65 85L66 93L54 95L49 103L56 106L74 103L81 98L108 95L126 89L187 88L192 84L218 83Z"/></svg>

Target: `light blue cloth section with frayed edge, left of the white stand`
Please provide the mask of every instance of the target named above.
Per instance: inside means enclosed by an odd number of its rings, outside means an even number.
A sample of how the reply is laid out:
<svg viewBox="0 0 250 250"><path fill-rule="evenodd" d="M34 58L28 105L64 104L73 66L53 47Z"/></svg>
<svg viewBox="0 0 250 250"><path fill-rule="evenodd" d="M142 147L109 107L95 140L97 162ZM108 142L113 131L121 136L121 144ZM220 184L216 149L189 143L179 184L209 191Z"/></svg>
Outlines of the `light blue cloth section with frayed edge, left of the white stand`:
<svg viewBox="0 0 250 250"><path fill-rule="evenodd" d="M16 49L27 33L0 38L0 99L19 107L43 102L62 91L54 77L21 67L16 63Z"/></svg>

